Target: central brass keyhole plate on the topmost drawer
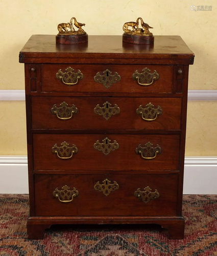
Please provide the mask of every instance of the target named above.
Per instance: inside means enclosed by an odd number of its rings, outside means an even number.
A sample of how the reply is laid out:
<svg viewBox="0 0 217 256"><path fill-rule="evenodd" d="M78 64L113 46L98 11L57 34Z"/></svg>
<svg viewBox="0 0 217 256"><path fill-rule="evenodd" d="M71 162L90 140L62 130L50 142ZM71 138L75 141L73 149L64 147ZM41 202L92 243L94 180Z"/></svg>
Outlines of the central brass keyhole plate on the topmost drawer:
<svg viewBox="0 0 217 256"><path fill-rule="evenodd" d="M120 76L117 74L117 72L114 72L114 75L111 74L110 70L105 70L104 72L98 72L94 76L94 81L102 83L103 86L105 86L106 89L108 89L112 83L116 83L120 80Z"/></svg>

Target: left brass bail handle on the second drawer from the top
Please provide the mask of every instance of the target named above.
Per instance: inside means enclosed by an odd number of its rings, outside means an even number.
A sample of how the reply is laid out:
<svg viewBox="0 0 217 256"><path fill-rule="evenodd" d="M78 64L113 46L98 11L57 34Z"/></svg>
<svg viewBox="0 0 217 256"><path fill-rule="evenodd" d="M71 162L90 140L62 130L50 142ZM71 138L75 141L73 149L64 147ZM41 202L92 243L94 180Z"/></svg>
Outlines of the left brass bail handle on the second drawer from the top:
<svg viewBox="0 0 217 256"><path fill-rule="evenodd" d="M76 114L78 112L78 109L75 105L68 106L68 104L63 101L60 106L58 107L57 104L53 105L53 108L51 109L51 113L53 115L57 115L57 117L61 120L67 120L73 117L73 114Z"/></svg>

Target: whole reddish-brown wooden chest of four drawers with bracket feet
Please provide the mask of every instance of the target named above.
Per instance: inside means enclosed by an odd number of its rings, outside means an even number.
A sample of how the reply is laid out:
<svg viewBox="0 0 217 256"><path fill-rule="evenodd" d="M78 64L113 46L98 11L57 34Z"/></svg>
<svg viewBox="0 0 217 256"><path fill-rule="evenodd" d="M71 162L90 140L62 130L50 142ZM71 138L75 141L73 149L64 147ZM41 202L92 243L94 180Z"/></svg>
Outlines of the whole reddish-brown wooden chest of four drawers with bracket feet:
<svg viewBox="0 0 217 256"><path fill-rule="evenodd" d="M25 63L30 239L53 224L155 223L182 239L188 66L179 36L153 45L33 35Z"/></svg>

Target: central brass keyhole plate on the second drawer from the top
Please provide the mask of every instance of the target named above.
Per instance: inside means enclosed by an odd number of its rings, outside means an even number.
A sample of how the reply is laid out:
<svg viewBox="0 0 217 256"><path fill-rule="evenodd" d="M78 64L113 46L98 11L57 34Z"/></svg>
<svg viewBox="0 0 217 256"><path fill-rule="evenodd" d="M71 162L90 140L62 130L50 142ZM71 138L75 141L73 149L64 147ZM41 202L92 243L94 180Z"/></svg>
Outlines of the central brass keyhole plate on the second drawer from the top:
<svg viewBox="0 0 217 256"><path fill-rule="evenodd" d="M112 115L120 113L120 108L118 108L117 104L111 106L111 103L106 101L103 103L103 106L99 104L95 106L94 113L100 116L103 116L106 120L108 120Z"/></svg>

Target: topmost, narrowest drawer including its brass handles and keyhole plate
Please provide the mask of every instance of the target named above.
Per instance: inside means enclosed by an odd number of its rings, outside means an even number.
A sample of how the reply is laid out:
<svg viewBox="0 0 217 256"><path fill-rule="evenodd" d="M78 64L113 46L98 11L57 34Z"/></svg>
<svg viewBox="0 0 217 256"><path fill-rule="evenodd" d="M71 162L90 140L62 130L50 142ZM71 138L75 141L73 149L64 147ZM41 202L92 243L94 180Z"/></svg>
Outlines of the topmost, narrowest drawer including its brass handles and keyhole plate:
<svg viewBox="0 0 217 256"><path fill-rule="evenodd" d="M139 85L134 73L139 83L150 85ZM42 92L172 93L172 88L172 65L41 65Z"/></svg>

